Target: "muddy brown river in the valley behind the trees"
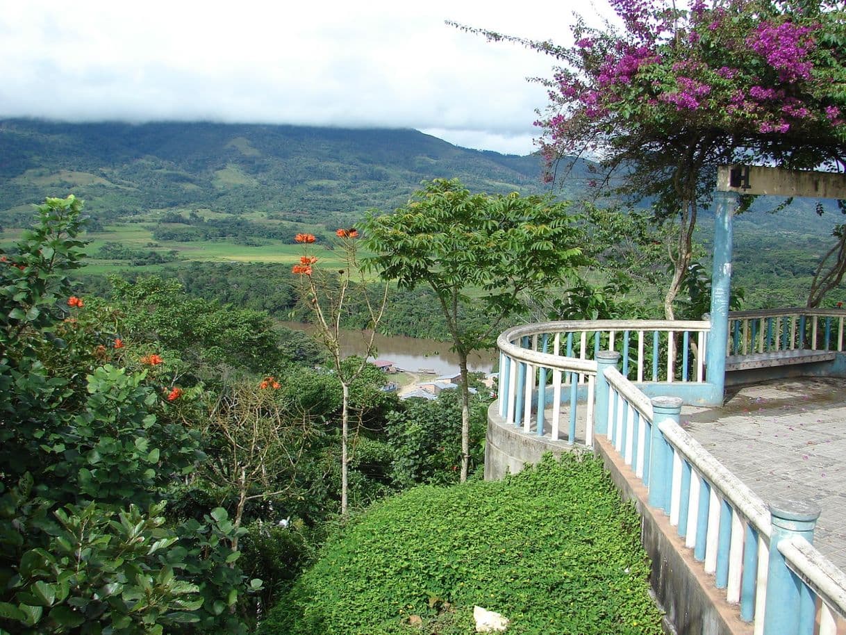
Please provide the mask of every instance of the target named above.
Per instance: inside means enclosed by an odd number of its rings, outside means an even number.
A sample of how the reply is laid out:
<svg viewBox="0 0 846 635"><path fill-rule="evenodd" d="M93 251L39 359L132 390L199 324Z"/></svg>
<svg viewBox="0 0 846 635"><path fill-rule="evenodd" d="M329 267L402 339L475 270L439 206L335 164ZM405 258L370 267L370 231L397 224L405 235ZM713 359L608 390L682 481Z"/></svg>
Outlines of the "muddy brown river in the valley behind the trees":
<svg viewBox="0 0 846 635"><path fill-rule="evenodd" d="M283 327L298 331L309 331L310 324L301 322L281 322ZM434 371L436 375L448 375L459 372L459 356L449 350L448 342L425 340L404 335L376 334L376 359L393 362L398 368L412 373ZM360 331L341 332L341 350L343 355L362 355L366 349L365 335ZM474 353L467 361L471 371L490 373L496 355L492 351Z"/></svg>

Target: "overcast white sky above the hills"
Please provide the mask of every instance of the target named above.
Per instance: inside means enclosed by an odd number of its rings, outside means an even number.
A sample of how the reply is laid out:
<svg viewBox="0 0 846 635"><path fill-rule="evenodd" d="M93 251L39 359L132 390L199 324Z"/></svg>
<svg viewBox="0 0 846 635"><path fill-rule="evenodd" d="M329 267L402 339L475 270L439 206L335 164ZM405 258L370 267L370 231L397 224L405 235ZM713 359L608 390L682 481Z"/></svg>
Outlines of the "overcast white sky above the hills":
<svg viewBox="0 0 846 635"><path fill-rule="evenodd" d="M0 0L0 118L403 127L525 154L552 58L607 0Z"/></svg>

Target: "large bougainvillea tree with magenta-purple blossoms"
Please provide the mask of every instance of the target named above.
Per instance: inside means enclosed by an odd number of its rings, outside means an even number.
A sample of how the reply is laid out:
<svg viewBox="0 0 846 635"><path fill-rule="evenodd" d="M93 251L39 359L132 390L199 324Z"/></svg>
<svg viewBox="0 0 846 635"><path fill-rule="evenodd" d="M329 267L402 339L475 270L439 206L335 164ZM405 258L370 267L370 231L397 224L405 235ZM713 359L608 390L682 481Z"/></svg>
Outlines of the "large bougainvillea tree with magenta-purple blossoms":
<svg viewBox="0 0 846 635"><path fill-rule="evenodd" d="M837 0L610 0L623 28L578 20L574 44L521 41L560 63L536 122L552 164L602 158L607 177L678 222L664 310L684 283L717 163L843 169L846 13ZM491 39L496 33L481 31ZM597 186L609 185L598 178Z"/></svg>

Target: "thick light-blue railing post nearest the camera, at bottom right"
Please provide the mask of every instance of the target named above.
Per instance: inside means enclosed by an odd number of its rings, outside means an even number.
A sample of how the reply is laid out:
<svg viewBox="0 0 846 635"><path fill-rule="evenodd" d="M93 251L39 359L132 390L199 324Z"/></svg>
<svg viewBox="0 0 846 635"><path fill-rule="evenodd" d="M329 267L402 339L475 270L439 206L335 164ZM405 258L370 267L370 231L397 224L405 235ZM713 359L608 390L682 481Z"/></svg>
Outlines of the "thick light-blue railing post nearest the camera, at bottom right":
<svg viewBox="0 0 846 635"><path fill-rule="evenodd" d="M814 527L820 511L820 506L811 501L774 500L770 503L772 534L766 579L764 635L788 632L810 635L814 632L813 594L788 569L784 556L778 550L778 543L793 536L802 536L813 543Z"/></svg>

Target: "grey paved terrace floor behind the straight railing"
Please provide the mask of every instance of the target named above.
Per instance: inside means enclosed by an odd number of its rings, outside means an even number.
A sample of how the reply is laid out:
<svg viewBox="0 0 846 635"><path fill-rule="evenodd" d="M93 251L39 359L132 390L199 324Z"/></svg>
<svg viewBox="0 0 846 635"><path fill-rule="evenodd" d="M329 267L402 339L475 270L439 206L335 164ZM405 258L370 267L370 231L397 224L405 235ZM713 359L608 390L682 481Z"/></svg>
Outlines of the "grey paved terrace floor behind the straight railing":
<svg viewBox="0 0 846 635"><path fill-rule="evenodd" d="M735 386L722 408L686 406L681 421L765 502L816 501L814 544L846 571L846 380Z"/></svg>

